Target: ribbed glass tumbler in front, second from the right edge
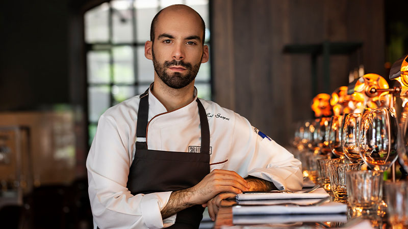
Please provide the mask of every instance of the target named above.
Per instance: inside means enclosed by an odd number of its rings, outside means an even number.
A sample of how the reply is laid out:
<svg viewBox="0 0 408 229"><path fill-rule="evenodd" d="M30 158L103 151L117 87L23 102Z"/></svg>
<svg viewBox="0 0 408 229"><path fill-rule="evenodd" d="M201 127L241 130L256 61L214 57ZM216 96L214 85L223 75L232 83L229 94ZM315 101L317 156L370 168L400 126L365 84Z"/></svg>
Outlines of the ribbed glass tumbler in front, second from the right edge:
<svg viewBox="0 0 408 229"><path fill-rule="evenodd" d="M353 216L377 214L382 200L382 173L378 171L348 171L346 186L348 203Z"/></svg>

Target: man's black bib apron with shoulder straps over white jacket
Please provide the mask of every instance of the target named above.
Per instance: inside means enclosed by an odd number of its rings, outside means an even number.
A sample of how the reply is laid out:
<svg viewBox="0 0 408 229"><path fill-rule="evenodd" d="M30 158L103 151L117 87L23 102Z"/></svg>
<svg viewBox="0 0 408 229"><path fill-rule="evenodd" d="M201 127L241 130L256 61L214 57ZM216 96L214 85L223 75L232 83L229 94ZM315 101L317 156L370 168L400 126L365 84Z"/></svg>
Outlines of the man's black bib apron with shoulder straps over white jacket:
<svg viewBox="0 0 408 229"><path fill-rule="evenodd" d="M148 91L140 95L136 139L146 137ZM136 141L135 157L129 171L127 188L133 195L190 188L210 173L210 129L207 113L196 100L201 126L200 153L148 150L145 141ZM176 138L177 136L169 136ZM198 228L204 208L200 205L177 213L169 228Z"/></svg>

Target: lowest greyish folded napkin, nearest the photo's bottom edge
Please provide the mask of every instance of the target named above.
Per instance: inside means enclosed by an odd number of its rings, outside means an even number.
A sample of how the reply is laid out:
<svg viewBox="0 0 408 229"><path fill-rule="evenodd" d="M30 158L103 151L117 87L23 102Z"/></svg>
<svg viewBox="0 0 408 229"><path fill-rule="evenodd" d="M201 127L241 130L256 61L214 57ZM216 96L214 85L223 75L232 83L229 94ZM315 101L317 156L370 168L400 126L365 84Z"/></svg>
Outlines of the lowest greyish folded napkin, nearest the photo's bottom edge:
<svg viewBox="0 0 408 229"><path fill-rule="evenodd" d="M347 215L235 215L233 217L233 224L276 224L293 222L347 222Z"/></svg>

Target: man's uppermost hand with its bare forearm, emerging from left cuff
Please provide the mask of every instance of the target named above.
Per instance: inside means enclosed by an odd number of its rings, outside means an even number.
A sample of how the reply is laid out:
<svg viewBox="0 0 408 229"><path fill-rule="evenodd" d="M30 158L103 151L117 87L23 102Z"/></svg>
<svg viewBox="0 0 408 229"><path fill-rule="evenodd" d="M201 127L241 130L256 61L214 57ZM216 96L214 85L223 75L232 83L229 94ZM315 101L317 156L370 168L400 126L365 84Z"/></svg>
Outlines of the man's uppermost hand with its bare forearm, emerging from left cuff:
<svg viewBox="0 0 408 229"><path fill-rule="evenodd" d="M236 195L249 191L249 188L248 182L235 171L214 169L195 186L172 192L161 214L164 219L193 205L206 204L219 193L230 192Z"/></svg>

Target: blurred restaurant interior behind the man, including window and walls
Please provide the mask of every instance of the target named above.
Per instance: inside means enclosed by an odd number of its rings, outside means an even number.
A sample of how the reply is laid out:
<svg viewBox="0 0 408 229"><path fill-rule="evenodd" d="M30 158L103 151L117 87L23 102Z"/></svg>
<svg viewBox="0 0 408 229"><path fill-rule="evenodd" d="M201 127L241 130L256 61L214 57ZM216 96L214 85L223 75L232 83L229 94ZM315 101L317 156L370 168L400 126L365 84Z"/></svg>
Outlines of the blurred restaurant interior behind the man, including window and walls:
<svg viewBox="0 0 408 229"><path fill-rule="evenodd" d="M284 146L293 124L313 117L314 96L362 70L388 79L408 53L403 0L2 1L4 228L92 228L85 161L98 118L148 88L151 19L178 3L207 25L210 62L196 78L199 97Z"/></svg>

